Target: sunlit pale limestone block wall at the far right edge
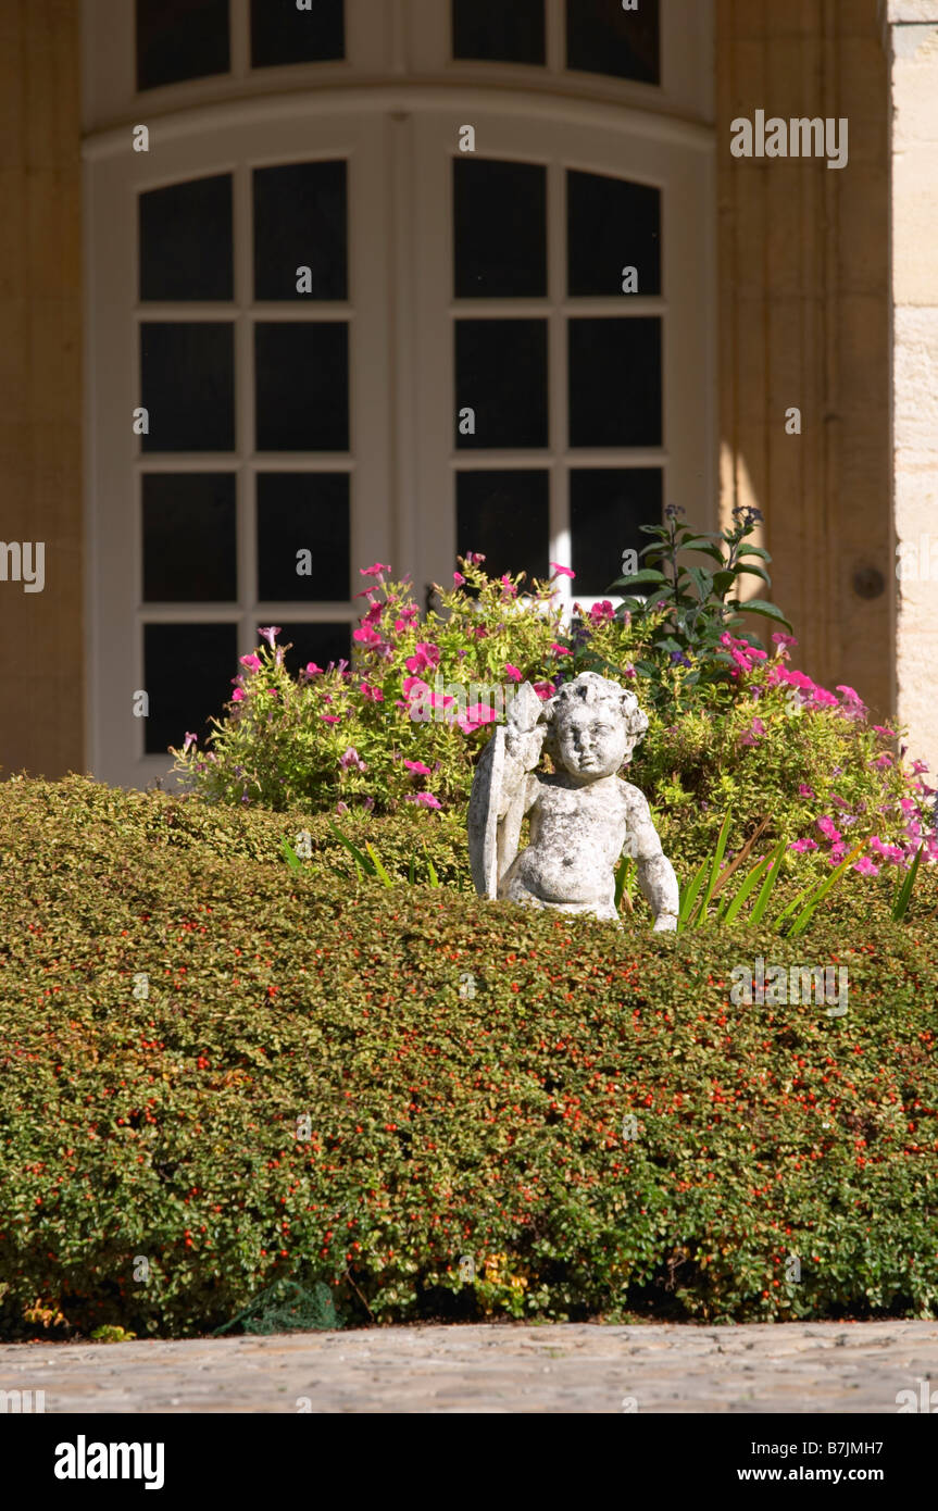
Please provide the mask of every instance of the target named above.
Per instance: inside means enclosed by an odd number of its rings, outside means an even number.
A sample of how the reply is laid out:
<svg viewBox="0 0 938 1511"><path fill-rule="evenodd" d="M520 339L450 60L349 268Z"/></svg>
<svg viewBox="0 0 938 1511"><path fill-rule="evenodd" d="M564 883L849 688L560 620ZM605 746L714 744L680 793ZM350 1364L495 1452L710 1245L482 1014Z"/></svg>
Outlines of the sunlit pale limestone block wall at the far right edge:
<svg viewBox="0 0 938 1511"><path fill-rule="evenodd" d="M938 771L938 0L890 0L897 712Z"/></svg>

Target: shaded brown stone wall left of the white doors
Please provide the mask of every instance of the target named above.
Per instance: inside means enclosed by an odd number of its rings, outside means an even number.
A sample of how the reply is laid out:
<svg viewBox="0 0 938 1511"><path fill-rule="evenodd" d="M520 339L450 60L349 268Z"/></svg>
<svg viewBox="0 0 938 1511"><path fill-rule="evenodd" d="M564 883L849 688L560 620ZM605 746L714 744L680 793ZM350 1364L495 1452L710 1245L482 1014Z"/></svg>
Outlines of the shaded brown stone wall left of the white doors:
<svg viewBox="0 0 938 1511"><path fill-rule="evenodd" d="M0 780L85 759L80 56L76 0L3 0L0 541L45 585L0 580Z"/></svg>

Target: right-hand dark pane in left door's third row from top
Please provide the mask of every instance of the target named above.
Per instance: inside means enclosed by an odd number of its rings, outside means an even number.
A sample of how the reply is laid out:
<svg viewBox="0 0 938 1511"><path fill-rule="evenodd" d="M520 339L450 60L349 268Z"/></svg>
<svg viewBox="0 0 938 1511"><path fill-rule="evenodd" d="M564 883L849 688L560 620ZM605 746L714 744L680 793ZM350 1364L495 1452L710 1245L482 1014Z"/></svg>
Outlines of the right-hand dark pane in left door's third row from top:
<svg viewBox="0 0 938 1511"><path fill-rule="evenodd" d="M257 597L347 603L350 574L349 474L260 473Z"/></svg>

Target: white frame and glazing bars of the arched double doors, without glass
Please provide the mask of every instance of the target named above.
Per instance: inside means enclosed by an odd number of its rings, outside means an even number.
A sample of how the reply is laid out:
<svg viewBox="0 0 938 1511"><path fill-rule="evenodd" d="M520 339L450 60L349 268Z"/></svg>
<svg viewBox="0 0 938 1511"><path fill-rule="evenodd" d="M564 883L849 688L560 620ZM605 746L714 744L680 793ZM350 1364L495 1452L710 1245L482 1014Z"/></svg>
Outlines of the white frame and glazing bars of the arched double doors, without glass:
<svg viewBox="0 0 938 1511"><path fill-rule="evenodd" d="M702 71L704 83L696 80L698 98L690 101L687 59L675 62L699 48L708 0L669 0L663 89L563 74L560 0L548 0L548 70L449 62L449 0L432 0L434 26L430 0L387 0L378 26L373 0L346 3L344 63L249 71L248 5L231 0L231 76L137 95L127 21L133 6L85 0L86 706L88 765L103 781L142 787L165 778L171 765L171 757L142 754L143 721L133 718L133 694L145 691L140 624L237 621L243 654L255 644L261 615L261 623L316 623L350 621L361 612L361 601L353 600L257 606L257 471L349 468L352 577L375 559L393 562L396 571L412 571L420 597L424 583L446 582L453 568L458 468L548 467L551 561L569 562L569 465L662 464L665 502L684 503L695 524L716 526L716 189L704 98L711 77ZM696 21L675 29L689 8ZM115 118L119 125L112 124ZM150 153L131 150L137 122L150 127ZM450 163L465 122L476 125L477 157L548 166L547 301L453 301ZM254 305L251 169L317 157L349 160L349 301ZM565 298L559 283L566 168L662 189L660 296ZM221 172L233 172L236 190L233 304L140 305L137 193ZM547 452L456 450L453 444L453 319L485 313L536 313L550 322ZM565 319L604 313L663 316L663 446L654 452L566 449ZM349 319L350 453L254 453L255 317ZM137 326L153 319L234 322L237 452L139 452L131 431L131 411L140 402ZM237 473L236 604L142 603L139 477L160 470ZM613 567L618 544L610 542ZM572 592L569 585L562 591L585 606L595 601L577 595L575 583Z"/></svg>

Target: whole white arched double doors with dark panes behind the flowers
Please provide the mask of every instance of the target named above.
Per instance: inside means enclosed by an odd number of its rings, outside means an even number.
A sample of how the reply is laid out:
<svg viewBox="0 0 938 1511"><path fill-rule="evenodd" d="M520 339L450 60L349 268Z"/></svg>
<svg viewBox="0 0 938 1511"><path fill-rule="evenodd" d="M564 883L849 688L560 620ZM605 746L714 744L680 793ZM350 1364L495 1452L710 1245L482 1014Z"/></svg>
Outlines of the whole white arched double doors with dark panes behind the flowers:
<svg viewBox="0 0 938 1511"><path fill-rule="evenodd" d="M711 520L707 8L577 9L88 5L103 780L165 774L258 626L347 656L358 567L589 603L665 497Z"/></svg>

